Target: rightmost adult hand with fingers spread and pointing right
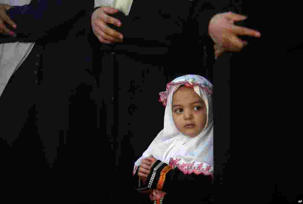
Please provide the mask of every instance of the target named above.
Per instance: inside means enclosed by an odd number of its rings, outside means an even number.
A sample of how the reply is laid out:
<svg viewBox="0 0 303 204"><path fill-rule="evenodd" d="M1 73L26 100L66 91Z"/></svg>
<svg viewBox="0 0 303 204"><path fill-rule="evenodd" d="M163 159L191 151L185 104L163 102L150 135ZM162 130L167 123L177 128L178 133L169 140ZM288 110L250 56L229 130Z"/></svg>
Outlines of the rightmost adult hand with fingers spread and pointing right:
<svg viewBox="0 0 303 204"><path fill-rule="evenodd" d="M235 21L241 21L247 17L233 12L220 13L211 18L208 25L208 33L216 46L220 47L218 54L224 51L239 52L247 44L247 41L242 41L238 35L248 35L252 37L260 37L258 31L236 26Z"/></svg>

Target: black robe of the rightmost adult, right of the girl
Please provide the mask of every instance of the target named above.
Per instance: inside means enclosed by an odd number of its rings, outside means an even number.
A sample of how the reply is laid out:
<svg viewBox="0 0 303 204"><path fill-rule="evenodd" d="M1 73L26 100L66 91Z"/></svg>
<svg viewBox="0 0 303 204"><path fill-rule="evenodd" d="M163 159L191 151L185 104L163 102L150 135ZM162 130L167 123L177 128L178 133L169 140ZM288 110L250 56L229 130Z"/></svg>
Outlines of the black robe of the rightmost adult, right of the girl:
<svg viewBox="0 0 303 204"><path fill-rule="evenodd" d="M261 38L241 37L248 41L248 46L240 53L226 53L229 59L222 55L214 68L214 84L217 87L214 91L214 106L217 107L214 200L215 203L229 199L234 201L234 197L230 196L234 189L228 186L235 183L233 172L237 167L230 166L228 162L230 151L226 137L229 137L230 112L226 110L227 104L222 103L230 97L229 74L228 78L222 77L229 66L235 71L233 120L239 121L234 122L237 133L233 133L237 135L236 152L240 153L236 160L241 165L236 175L245 178L245 181L238 179L238 185L245 186L237 193L238 199L249 198L251 202L261 203L298 203L302 198L297 185L302 181L301 174L295 167L291 173L293 177L290 177L287 170L280 167L282 161L286 166L295 165L300 155L295 136L300 122L294 113L301 107L298 101L301 75L295 69L301 64L302 55L301 34L296 29L300 24L301 8L294 2L265 2L262 5L240 2L240 12L248 18L237 24L260 31ZM283 15L278 15L276 11L282 11ZM291 84L291 88L283 84ZM282 106L278 102L281 100L284 101ZM252 166L262 170L256 171ZM219 183L224 183L224 186L217 186Z"/></svg>

